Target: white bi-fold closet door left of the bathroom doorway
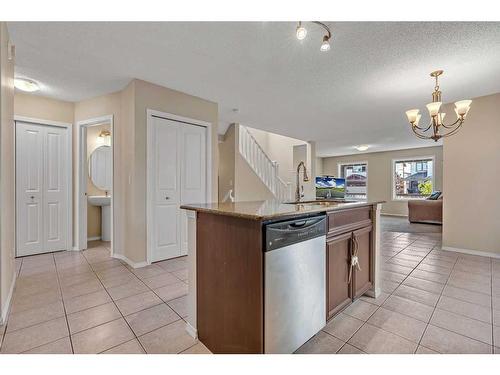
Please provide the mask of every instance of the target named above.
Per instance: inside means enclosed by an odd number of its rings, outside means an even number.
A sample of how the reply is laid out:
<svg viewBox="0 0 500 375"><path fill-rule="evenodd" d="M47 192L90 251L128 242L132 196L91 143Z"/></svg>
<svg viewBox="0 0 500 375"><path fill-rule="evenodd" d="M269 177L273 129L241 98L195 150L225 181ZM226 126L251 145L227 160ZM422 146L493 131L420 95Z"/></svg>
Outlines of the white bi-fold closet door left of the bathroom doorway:
<svg viewBox="0 0 500 375"><path fill-rule="evenodd" d="M16 123L17 256L69 249L68 129Z"/></svg>

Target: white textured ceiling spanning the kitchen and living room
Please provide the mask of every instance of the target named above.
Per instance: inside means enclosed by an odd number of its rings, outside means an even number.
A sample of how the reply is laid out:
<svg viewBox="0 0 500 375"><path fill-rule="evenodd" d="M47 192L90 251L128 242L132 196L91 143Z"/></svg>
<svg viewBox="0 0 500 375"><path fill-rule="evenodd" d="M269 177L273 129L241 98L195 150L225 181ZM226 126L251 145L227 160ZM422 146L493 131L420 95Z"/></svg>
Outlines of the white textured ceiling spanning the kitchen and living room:
<svg viewBox="0 0 500 375"><path fill-rule="evenodd" d="M307 24L299 42L290 22L8 28L16 74L40 82L41 95L77 101L139 78L219 103L222 131L236 121L318 141L322 156L356 153L358 144L369 152L433 145L411 134L404 115L425 109L433 70L445 70L447 102L500 91L500 23L326 23L328 53L317 26Z"/></svg>

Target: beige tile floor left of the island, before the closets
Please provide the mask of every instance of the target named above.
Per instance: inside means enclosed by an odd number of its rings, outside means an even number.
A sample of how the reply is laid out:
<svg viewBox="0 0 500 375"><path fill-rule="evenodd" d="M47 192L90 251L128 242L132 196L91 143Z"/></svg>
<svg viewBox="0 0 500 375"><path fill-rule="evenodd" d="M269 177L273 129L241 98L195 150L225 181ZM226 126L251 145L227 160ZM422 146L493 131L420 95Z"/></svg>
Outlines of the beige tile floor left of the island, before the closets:
<svg viewBox="0 0 500 375"><path fill-rule="evenodd" d="M185 331L185 258L131 269L107 246L17 259L0 352L208 352Z"/></svg>

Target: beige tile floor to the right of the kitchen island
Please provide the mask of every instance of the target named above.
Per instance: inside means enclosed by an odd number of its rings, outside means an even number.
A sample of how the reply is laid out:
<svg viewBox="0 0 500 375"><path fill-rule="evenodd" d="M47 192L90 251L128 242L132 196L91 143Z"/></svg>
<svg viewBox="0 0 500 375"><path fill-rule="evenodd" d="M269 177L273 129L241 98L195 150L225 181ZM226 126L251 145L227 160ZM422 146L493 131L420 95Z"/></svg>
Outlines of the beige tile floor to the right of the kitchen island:
<svg viewBox="0 0 500 375"><path fill-rule="evenodd" d="M500 353L500 259L383 232L382 294L362 297L298 353Z"/></svg>

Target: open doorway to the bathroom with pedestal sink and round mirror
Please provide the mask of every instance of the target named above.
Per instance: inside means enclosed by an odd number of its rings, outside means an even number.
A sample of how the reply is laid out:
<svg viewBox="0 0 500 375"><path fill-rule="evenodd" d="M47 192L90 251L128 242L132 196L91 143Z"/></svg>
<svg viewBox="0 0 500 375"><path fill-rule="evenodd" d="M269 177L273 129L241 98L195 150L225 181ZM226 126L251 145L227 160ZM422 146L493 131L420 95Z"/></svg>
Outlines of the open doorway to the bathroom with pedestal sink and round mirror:
<svg viewBox="0 0 500 375"><path fill-rule="evenodd" d="M113 116L77 123L76 250L102 241L113 255Z"/></svg>

